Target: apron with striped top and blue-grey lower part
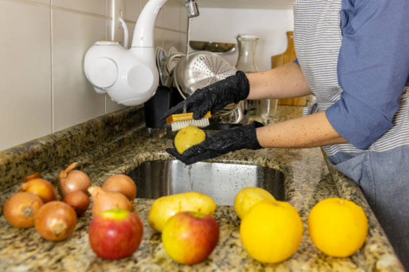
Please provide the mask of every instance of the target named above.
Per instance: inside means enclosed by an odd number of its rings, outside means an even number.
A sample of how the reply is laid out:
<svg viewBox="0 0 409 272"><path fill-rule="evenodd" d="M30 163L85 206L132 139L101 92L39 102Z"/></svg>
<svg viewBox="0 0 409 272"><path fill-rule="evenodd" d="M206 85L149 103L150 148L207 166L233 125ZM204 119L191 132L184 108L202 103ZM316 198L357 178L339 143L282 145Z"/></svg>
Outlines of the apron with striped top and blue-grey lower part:
<svg viewBox="0 0 409 272"><path fill-rule="evenodd" d="M304 115L325 111L342 92L337 61L341 0L296 0L294 45L316 98ZM394 126L368 150L350 143L322 147L335 168L355 180L409 271L409 88L402 91Z"/></svg>

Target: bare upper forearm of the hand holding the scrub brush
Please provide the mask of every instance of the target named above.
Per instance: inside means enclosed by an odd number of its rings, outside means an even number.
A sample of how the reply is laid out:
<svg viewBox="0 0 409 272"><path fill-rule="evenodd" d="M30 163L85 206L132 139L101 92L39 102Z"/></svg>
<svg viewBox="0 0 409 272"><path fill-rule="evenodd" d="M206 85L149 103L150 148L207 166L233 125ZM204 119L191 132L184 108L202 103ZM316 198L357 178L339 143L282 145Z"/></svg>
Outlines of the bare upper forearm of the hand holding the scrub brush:
<svg viewBox="0 0 409 272"><path fill-rule="evenodd" d="M311 94L301 68L294 62L267 71L247 73L246 77L250 84L247 99L292 98Z"/></svg>

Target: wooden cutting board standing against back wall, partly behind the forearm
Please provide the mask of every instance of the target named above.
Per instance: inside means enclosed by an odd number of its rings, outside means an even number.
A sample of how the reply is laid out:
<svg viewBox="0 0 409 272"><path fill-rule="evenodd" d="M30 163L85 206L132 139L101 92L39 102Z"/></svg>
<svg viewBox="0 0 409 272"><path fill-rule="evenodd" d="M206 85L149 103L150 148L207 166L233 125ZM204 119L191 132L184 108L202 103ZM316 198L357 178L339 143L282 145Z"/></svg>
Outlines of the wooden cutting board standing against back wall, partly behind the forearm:
<svg viewBox="0 0 409 272"><path fill-rule="evenodd" d="M286 63L292 62L297 58L295 55L295 48L294 48L294 38L293 32L287 32L287 50L280 55L275 55L271 57L271 68L275 68ZM296 106L305 106L307 103L306 96L297 97L297 98L285 98L279 99L278 105L296 105Z"/></svg>

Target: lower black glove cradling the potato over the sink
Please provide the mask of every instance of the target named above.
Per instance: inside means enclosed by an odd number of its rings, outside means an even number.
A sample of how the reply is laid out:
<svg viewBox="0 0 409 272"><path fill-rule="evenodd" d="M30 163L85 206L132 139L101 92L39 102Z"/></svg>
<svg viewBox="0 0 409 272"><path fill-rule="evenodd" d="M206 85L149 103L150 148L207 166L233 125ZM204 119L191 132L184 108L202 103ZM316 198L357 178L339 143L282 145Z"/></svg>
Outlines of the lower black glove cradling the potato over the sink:
<svg viewBox="0 0 409 272"><path fill-rule="evenodd" d="M166 149L167 153L189 165L198 161L211 159L231 151L241 149L257 150L263 147L257 141L255 129L263 127L262 123L253 122L239 128L206 134L206 140L193 145L179 154L176 149Z"/></svg>

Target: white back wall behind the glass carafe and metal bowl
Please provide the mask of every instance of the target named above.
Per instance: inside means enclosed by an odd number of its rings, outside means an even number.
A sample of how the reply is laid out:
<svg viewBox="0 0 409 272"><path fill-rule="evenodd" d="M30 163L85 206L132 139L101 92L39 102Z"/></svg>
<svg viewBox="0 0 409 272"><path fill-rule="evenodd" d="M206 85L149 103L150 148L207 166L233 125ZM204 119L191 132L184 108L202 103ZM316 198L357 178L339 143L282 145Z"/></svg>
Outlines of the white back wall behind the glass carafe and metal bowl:
<svg viewBox="0 0 409 272"><path fill-rule="evenodd" d="M229 3L231 2L233 1L229 1ZM291 8L221 9L203 7L200 8L200 16L193 20L190 39L236 43L235 36L239 33L256 35L259 37L255 52L257 67L259 70L268 70L271 69L271 56L286 51L286 33L294 30L293 16ZM214 29L217 29L217 31L213 31ZM238 50L223 55L223 57L230 64L236 65Z"/></svg>

